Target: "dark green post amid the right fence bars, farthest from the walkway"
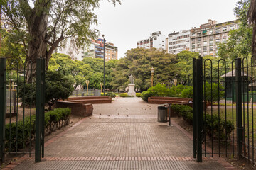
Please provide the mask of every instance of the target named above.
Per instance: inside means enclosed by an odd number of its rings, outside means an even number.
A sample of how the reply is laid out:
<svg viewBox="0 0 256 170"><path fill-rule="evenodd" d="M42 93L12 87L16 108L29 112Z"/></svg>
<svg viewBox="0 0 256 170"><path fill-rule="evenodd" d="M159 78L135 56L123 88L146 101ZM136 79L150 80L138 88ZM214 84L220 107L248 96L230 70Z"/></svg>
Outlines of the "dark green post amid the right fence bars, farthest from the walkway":
<svg viewBox="0 0 256 170"><path fill-rule="evenodd" d="M241 59L235 62L235 102L236 102L236 128L238 136L238 155L242 154L242 77L241 77Z"/></svg>

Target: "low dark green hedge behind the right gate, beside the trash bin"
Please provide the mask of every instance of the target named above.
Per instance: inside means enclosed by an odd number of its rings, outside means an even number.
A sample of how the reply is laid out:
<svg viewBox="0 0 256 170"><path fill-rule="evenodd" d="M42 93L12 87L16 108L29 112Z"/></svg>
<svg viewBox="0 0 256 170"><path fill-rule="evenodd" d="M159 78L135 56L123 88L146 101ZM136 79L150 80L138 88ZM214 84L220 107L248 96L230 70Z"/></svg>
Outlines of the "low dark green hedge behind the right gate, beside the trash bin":
<svg viewBox="0 0 256 170"><path fill-rule="evenodd" d="M182 116L184 120L193 125L193 108L186 105L173 105L171 106L172 111ZM232 122L230 120L223 120L223 118L218 118L218 115L209 115L205 116L205 132L210 138L220 140L227 140L230 138L231 132L234 129ZM220 131L220 134L219 134ZM227 137L225 136L227 132Z"/></svg>

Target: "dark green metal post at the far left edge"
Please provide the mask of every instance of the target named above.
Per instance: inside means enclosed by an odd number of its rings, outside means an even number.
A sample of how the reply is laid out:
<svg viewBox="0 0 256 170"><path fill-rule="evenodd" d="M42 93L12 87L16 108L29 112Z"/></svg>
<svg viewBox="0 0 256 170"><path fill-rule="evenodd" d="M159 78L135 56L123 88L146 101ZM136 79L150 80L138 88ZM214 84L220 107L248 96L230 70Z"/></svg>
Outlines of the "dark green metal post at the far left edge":
<svg viewBox="0 0 256 170"><path fill-rule="evenodd" d="M0 58L0 159L4 162L6 115L6 58Z"/></svg>

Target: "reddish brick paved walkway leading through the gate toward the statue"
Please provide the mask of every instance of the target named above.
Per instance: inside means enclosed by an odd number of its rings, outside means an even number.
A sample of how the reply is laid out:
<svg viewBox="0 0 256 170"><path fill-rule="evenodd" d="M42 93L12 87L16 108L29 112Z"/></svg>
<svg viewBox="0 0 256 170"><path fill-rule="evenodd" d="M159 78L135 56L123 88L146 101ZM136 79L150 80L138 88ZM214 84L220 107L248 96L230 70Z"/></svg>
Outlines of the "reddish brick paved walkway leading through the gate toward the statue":
<svg viewBox="0 0 256 170"><path fill-rule="evenodd" d="M220 159L193 159L193 142L156 122L157 105L118 98L46 142L46 157L22 159L10 169L234 169ZM18 166L17 166L18 164ZM6 167L7 168L7 167Z"/></svg>

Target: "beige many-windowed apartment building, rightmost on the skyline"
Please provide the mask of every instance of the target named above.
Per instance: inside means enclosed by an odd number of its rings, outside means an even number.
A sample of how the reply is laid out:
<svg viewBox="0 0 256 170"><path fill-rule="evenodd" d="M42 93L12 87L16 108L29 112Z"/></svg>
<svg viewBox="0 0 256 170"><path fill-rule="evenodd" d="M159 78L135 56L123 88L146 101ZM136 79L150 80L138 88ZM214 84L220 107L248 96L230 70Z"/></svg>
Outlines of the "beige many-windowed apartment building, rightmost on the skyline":
<svg viewBox="0 0 256 170"><path fill-rule="evenodd" d="M238 21L217 23L208 20L200 28L191 29L191 52L198 52L201 56L211 55L218 57L218 44L227 42L230 30L238 29Z"/></svg>

